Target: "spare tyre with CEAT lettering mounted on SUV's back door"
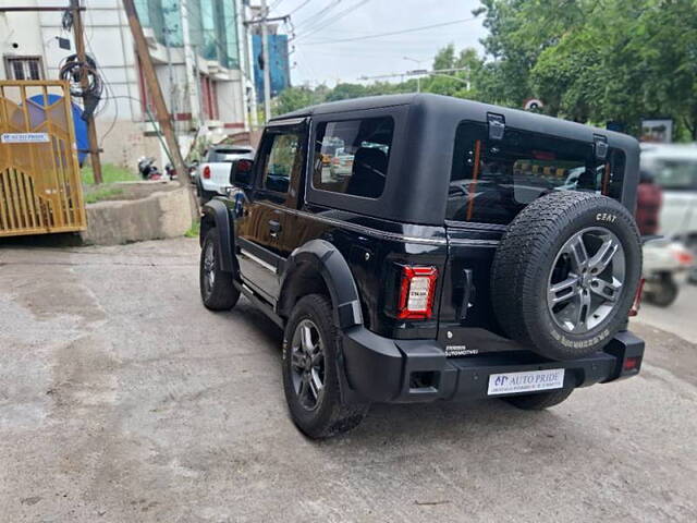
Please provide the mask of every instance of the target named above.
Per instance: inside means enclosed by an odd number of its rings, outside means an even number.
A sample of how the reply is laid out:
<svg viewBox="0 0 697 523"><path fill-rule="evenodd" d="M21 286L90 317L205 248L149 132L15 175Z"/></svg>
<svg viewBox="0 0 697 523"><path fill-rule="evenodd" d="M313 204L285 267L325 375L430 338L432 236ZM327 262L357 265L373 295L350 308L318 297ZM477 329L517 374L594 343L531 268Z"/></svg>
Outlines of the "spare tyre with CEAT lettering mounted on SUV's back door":
<svg viewBox="0 0 697 523"><path fill-rule="evenodd" d="M594 193L557 192L509 226L492 263L491 300L510 338L542 356L573 360L626 326L640 276L629 211Z"/></svg>

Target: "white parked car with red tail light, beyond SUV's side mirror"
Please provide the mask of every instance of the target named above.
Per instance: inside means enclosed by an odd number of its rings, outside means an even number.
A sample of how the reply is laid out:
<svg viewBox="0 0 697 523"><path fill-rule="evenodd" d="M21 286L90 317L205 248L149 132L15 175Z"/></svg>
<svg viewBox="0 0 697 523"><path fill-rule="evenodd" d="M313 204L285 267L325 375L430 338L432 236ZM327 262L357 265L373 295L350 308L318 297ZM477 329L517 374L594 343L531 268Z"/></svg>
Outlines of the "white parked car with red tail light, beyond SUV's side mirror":
<svg viewBox="0 0 697 523"><path fill-rule="evenodd" d="M230 186L232 162L239 159L254 159L254 147L244 145L215 145L204 155L198 165L196 188L201 204L217 195L224 195Z"/></svg>

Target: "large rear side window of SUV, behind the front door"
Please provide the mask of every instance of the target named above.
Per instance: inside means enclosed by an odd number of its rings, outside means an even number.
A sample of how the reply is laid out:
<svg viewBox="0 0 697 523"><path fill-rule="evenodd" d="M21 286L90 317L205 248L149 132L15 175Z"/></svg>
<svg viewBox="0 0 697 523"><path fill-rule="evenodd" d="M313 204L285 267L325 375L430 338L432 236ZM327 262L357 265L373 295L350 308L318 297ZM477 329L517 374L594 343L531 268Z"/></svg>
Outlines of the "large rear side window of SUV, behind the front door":
<svg viewBox="0 0 697 523"><path fill-rule="evenodd" d="M394 121L368 118L317 126L313 186L378 198L384 190Z"/></svg>

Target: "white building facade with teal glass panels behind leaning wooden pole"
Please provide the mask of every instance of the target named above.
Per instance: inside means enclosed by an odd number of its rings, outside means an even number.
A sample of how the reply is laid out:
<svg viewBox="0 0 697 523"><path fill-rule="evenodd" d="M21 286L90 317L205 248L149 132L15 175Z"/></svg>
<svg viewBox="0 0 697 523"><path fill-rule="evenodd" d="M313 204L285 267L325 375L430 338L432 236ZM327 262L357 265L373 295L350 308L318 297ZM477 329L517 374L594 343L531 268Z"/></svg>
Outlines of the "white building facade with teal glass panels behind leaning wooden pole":
<svg viewBox="0 0 697 523"><path fill-rule="evenodd" d="M68 0L23 0L23 5L65 5ZM0 5L16 5L0 0ZM86 0L87 52L106 89L96 124L102 161L133 168L140 156L166 161L155 132L151 94L139 65L121 0ZM160 88L186 154L199 127L218 141L249 129L254 97L242 0L136 0ZM71 49L59 45L71 41ZM0 78L57 78L74 53L61 12L0 13Z"/></svg>

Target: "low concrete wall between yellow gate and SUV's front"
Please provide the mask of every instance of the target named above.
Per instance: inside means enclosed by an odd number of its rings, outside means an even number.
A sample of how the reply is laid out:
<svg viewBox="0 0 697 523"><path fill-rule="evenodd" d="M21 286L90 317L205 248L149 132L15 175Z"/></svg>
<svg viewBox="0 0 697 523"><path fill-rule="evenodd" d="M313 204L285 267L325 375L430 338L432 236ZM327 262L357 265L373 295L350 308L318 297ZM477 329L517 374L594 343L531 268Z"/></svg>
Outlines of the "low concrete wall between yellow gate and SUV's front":
<svg viewBox="0 0 697 523"><path fill-rule="evenodd" d="M161 240L183 235L192 227L192 200L188 187L152 193L134 200L99 202L87 206L87 244Z"/></svg>

